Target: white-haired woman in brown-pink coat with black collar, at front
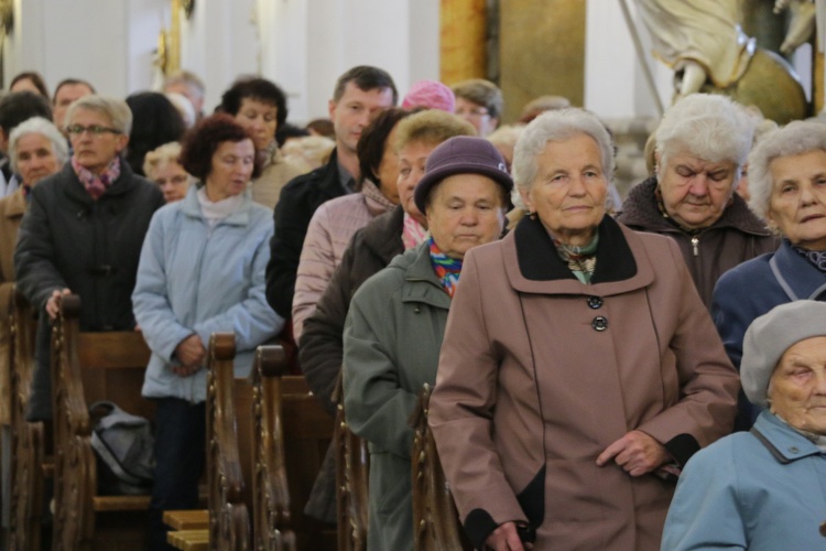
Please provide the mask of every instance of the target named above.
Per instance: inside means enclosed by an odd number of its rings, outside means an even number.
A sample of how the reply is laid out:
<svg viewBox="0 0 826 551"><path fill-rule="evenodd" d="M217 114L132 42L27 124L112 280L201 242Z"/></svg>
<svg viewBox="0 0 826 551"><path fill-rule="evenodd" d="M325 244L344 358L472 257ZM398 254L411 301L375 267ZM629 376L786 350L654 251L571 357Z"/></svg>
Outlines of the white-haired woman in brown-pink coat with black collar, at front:
<svg viewBox="0 0 826 551"><path fill-rule="evenodd" d="M656 549L737 374L677 245L606 215L597 117L539 116L513 169L530 215L465 256L430 404L459 515L477 549Z"/></svg>

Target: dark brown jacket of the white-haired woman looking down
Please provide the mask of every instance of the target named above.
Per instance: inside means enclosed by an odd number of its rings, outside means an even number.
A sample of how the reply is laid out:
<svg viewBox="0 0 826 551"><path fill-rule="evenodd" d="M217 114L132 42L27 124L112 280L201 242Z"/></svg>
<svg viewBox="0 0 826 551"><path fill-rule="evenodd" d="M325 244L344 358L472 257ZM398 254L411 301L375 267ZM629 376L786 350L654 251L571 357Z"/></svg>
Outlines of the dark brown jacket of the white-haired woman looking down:
<svg viewBox="0 0 826 551"><path fill-rule="evenodd" d="M706 307L711 306L711 292L720 276L741 262L774 252L780 246L780 240L737 194L717 222L691 236L660 214L655 188L656 179L650 177L631 190L617 220L631 229L674 239Z"/></svg>

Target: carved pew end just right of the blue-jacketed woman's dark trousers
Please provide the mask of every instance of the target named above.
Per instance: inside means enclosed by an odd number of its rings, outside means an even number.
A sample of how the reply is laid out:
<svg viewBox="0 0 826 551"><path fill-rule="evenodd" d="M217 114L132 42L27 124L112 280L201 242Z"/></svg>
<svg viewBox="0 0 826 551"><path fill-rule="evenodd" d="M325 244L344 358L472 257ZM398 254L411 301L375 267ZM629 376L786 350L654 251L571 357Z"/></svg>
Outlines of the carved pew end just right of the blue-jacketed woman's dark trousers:
<svg viewBox="0 0 826 551"><path fill-rule="evenodd" d="M238 449L232 333L215 333L207 360L207 480L210 549L249 549L250 516L243 501L243 473Z"/></svg>

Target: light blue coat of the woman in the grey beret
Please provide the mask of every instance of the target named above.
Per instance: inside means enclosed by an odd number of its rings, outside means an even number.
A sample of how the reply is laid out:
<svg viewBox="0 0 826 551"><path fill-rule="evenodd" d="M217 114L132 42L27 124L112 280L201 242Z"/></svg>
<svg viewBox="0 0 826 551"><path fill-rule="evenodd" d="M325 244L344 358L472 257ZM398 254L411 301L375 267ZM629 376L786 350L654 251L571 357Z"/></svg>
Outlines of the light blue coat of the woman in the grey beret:
<svg viewBox="0 0 826 551"><path fill-rule="evenodd" d="M754 429L764 443L738 432L688 461L662 551L826 549L826 454L769 411Z"/></svg>

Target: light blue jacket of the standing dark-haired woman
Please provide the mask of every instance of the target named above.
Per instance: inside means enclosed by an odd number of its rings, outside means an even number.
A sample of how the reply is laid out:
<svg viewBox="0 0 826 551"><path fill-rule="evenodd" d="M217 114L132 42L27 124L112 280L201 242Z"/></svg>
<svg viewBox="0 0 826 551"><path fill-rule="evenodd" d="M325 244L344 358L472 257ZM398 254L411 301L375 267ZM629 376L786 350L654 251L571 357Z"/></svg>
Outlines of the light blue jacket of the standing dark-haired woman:
<svg viewBox="0 0 826 551"><path fill-rule="evenodd" d="M152 349L143 396L206 400L205 369L189 377L170 369L175 347L193 333L208 346L214 332L235 332L236 377L249 374L254 348L284 324L264 298L272 233L272 210L253 203L249 191L241 207L213 228L194 185L183 201L155 213L132 293L134 317Z"/></svg>

